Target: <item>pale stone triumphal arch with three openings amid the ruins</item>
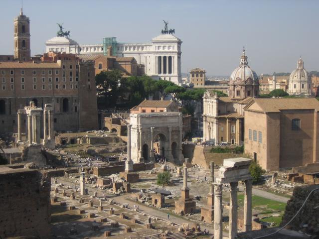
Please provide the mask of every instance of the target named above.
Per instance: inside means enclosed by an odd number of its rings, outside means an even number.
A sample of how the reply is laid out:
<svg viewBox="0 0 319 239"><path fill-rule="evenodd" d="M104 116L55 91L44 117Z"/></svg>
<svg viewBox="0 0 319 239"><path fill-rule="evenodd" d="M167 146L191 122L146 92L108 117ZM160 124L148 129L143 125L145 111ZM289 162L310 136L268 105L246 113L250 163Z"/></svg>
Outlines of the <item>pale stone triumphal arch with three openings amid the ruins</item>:
<svg viewBox="0 0 319 239"><path fill-rule="evenodd" d="M182 114L179 112L130 114L131 155L134 163L154 161L159 153L168 161L183 162Z"/></svg>

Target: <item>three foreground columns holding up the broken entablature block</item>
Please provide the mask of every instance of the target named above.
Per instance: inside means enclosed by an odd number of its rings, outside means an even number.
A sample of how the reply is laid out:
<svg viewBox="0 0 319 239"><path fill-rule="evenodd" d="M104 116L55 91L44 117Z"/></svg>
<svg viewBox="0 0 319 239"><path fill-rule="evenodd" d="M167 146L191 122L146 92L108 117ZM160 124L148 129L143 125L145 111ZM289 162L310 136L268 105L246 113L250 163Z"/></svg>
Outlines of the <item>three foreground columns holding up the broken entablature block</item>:
<svg viewBox="0 0 319 239"><path fill-rule="evenodd" d="M223 238L223 207L222 207L223 184L214 183L214 238ZM230 183L230 202L229 202L229 239L237 236L238 203L237 203L238 182ZM252 220L252 180L244 181L244 231L251 231Z"/></svg>

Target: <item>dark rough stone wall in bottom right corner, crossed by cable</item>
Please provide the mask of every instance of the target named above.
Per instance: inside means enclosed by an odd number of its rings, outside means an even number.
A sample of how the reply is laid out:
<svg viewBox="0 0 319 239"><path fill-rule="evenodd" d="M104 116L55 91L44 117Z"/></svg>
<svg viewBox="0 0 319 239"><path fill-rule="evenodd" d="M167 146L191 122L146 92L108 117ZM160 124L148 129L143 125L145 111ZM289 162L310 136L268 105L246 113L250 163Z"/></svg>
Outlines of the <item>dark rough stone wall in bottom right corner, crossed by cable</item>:
<svg viewBox="0 0 319 239"><path fill-rule="evenodd" d="M295 187L293 196L287 203L283 221L280 226L284 226L292 219L305 202L308 194L316 188L318 188L318 190L312 193L304 208L287 228L294 231L302 231L303 233L311 235L319 234L319 185ZM307 227L304 227L304 225L307 225Z"/></svg>

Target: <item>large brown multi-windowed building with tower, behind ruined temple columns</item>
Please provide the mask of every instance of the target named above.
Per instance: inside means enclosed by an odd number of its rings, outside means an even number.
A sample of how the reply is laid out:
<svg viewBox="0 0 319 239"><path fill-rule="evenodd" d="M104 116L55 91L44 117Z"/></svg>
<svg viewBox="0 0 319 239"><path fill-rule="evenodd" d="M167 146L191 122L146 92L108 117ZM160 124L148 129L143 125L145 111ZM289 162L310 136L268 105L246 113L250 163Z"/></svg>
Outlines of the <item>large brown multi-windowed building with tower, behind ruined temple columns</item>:
<svg viewBox="0 0 319 239"><path fill-rule="evenodd" d="M24 22L22 11L14 21L15 31L22 29L20 19ZM29 26L24 28L28 30ZM44 54L41 61L23 61L29 59L29 51L24 49L27 47L29 44L22 45L22 52L15 48L18 61L0 61L0 133L17 131L16 113L30 101L41 108L53 105L56 131L97 128L94 62L81 60L75 54L53 52Z"/></svg>

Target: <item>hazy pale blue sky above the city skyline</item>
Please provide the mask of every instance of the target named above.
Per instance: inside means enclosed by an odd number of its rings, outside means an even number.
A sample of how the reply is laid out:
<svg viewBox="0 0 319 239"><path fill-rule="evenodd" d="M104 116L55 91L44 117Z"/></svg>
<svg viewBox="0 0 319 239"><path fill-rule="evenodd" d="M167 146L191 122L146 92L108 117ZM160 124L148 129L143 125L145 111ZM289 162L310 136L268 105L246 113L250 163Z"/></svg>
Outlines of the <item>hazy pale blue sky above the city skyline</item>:
<svg viewBox="0 0 319 239"><path fill-rule="evenodd" d="M0 54L13 54L13 18L21 0L0 0ZM319 70L319 0L23 0L30 18L31 55L45 50L58 23L79 44L147 43L163 19L182 40L181 69L200 67L228 76L245 46L259 74L291 72L300 56L308 71Z"/></svg>

